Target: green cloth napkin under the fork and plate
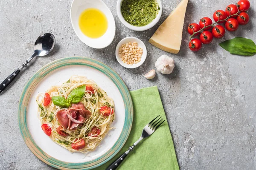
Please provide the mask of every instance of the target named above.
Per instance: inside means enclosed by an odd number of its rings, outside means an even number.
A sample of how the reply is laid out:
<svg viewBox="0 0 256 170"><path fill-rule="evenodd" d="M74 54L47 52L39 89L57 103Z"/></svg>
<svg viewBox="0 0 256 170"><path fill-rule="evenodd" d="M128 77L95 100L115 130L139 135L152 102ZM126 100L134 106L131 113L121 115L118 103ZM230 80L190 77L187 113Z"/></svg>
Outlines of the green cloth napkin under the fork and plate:
<svg viewBox="0 0 256 170"><path fill-rule="evenodd" d="M134 144L143 128L160 115L166 119L157 86L131 91L134 104L134 119L131 133L120 152L106 164L95 170L105 170ZM125 158L118 170L179 170L175 148L167 121L151 136L143 139Z"/></svg>

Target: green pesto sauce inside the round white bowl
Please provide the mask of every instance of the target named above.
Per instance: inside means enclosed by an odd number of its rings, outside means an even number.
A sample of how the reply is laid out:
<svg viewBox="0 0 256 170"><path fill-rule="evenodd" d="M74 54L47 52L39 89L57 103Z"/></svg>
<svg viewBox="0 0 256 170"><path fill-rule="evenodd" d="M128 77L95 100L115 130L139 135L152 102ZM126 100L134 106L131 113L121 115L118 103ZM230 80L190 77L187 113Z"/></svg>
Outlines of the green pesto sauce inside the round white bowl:
<svg viewBox="0 0 256 170"><path fill-rule="evenodd" d="M133 26L145 26L151 23L160 7L155 0L123 0L122 16Z"/></svg>

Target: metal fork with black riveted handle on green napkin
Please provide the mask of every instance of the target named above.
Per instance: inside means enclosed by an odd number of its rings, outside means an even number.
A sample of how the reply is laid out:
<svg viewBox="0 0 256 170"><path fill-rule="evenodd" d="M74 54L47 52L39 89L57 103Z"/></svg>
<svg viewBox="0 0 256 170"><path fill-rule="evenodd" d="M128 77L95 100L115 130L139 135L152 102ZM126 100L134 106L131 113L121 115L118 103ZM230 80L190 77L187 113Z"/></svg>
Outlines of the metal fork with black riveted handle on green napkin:
<svg viewBox="0 0 256 170"><path fill-rule="evenodd" d="M152 133L154 133L157 128L162 125L162 123L165 121L162 117L159 117L158 115L156 118L154 118L151 122L146 125L142 131L142 134L140 136L140 139L137 140L132 146L129 147L129 150L127 150L122 156L120 156L116 161L114 161L106 170L116 170L116 168L122 163L122 161L125 159L125 157L130 153L132 150L134 150L134 147L144 138L150 136ZM158 118L159 117L159 118ZM158 119L157 119L158 118ZM161 119L162 118L162 119ZM157 119L157 120L156 120ZM156 121L155 121L156 120ZM159 124L160 123L160 124ZM159 125L158 125L159 124Z"/></svg>

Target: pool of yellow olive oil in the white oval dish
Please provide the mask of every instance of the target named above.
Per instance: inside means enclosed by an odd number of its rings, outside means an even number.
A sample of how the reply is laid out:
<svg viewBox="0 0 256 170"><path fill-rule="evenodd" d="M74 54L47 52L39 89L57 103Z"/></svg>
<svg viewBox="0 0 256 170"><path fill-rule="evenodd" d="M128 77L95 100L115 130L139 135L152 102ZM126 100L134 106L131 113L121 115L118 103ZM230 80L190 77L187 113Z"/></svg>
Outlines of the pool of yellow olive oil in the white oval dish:
<svg viewBox="0 0 256 170"><path fill-rule="evenodd" d="M87 8L79 17L79 28L90 38L99 38L108 29L108 20L105 14L97 8Z"/></svg>

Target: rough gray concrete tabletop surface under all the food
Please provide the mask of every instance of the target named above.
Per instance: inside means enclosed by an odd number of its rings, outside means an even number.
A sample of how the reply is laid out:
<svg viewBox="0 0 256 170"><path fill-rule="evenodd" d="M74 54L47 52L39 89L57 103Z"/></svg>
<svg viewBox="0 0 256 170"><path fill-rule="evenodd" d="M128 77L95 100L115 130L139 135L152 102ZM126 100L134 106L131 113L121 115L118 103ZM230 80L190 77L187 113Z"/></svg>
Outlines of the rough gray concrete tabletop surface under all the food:
<svg viewBox="0 0 256 170"><path fill-rule="evenodd" d="M188 24L201 17L212 17L215 10L224 10L237 1L190 0L178 54L168 54L148 43L157 26L143 32L131 31L116 15L116 0L103 1L116 21L116 37L104 49L90 48L76 36L69 16L71 0L0 1L0 80L32 54L39 35L50 32L57 42L51 56L34 60L0 96L0 169L53 169L34 156L23 142L17 124L18 102L26 82L39 68L70 56L87 56L106 63L130 90L158 86L181 170L256 169L256 56L231 55L218 46L219 42L237 36L256 42L256 0L250 0L250 22L246 26L227 32L221 40L214 39L197 53L188 48ZM178 1L162 0L163 15L158 26ZM148 49L145 63L132 70L119 65L114 53L119 40L128 36L140 38ZM153 69L162 54L175 59L174 73L157 73L155 79L145 79L142 74Z"/></svg>

